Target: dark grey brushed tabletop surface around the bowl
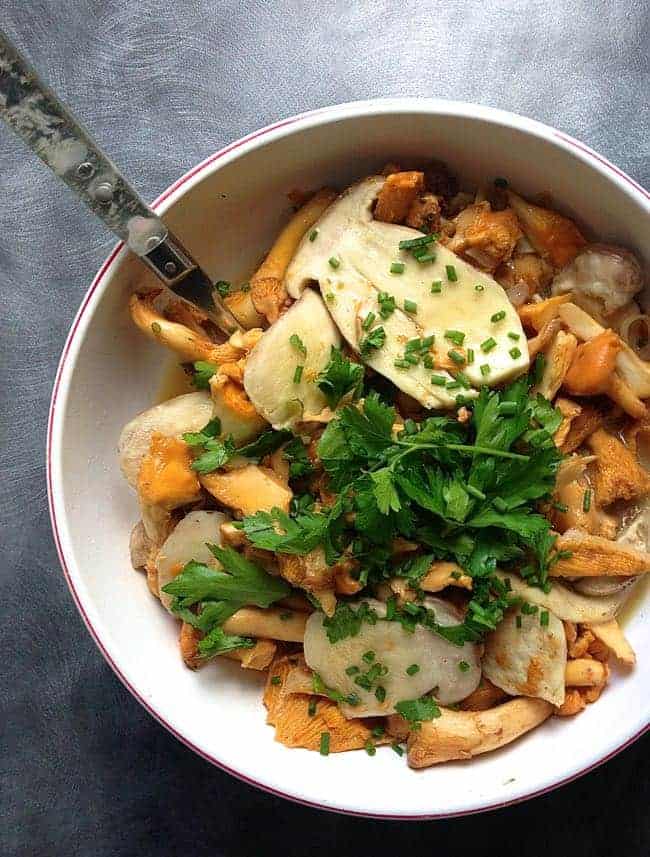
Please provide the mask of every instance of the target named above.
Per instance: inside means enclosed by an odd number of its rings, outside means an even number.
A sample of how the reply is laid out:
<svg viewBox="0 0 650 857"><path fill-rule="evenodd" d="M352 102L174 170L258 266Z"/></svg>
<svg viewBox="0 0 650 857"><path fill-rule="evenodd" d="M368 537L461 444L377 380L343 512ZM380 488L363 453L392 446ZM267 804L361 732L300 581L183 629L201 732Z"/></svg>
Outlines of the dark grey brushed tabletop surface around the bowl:
<svg viewBox="0 0 650 857"><path fill-rule="evenodd" d="M0 0L0 26L145 198L280 117L401 94L549 122L650 186L643 0ZM4 128L0 203L0 852L648 854L650 737L531 803L406 827L269 797L145 713L82 626L46 511L56 362L113 239Z"/></svg>

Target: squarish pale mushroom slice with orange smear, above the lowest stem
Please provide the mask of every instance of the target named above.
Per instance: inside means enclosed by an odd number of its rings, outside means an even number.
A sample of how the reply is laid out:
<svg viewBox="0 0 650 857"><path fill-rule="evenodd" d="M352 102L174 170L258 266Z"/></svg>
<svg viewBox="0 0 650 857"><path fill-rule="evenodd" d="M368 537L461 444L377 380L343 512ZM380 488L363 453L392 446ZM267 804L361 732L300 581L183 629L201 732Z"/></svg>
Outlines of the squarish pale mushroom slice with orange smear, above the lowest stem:
<svg viewBox="0 0 650 857"><path fill-rule="evenodd" d="M548 625L542 625L539 613L524 615L512 608L486 637L483 675L511 696L562 705L566 658L564 626L557 616L549 613Z"/></svg>

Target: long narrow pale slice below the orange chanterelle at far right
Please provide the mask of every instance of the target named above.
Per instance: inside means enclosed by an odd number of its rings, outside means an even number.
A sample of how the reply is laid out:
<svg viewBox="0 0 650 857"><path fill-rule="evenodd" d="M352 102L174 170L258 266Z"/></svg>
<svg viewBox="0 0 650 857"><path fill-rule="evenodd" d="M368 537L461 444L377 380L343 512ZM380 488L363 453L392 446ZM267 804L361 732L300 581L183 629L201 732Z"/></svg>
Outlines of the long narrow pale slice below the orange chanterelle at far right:
<svg viewBox="0 0 650 857"><path fill-rule="evenodd" d="M568 586L554 580L549 592L537 586L528 586L516 574L497 571L501 580L510 581L513 595L517 595L529 604L537 604L554 613L558 619L566 622L608 622L616 616L625 601L625 594L616 592L600 598L591 598L574 592Z"/></svg>

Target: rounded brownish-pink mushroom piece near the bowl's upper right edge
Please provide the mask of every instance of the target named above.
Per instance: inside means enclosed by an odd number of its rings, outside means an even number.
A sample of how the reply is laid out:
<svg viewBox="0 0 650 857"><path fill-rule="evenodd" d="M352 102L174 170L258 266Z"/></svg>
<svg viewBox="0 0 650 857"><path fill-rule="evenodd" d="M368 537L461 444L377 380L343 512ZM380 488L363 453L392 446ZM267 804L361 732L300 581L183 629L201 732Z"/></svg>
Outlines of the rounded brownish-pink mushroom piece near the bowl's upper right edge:
<svg viewBox="0 0 650 857"><path fill-rule="evenodd" d="M573 294L573 301L593 314L610 316L641 291L641 266L629 250L589 244L553 280L553 294Z"/></svg>

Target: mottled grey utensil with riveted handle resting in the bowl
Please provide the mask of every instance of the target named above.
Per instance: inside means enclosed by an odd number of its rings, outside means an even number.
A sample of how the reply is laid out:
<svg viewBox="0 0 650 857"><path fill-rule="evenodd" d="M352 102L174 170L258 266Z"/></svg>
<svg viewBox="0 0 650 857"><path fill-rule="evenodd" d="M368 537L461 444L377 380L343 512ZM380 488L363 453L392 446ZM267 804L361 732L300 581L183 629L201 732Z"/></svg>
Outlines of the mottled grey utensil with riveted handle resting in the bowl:
<svg viewBox="0 0 650 857"><path fill-rule="evenodd" d="M224 332L239 329L204 271L2 30L0 118L168 288Z"/></svg>

